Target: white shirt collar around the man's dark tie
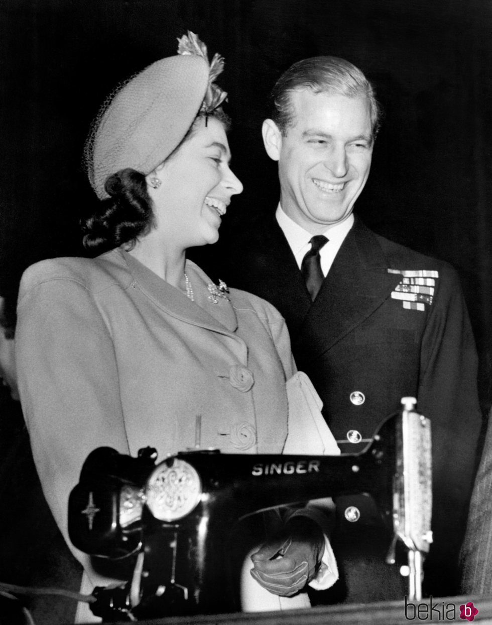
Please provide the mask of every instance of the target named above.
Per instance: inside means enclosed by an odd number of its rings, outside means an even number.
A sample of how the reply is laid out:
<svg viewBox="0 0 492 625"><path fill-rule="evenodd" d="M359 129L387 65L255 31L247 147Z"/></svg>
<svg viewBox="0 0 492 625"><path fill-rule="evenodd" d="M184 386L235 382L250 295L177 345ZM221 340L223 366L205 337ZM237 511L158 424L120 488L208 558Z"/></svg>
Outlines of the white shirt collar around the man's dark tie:
<svg viewBox="0 0 492 625"><path fill-rule="evenodd" d="M309 241L313 235L285 214L282 210L282 206L280 206L280 203L277 206L275 217L278 225L282 228L282 232L287 239L290 249L292 249L297 265L300 268L303 257L310 249ZM330 267L332 266L335 256L337 256L337 252L342 246L348 231L352 228L353 221L354 218L351 213L345 221L342 221L341 224L327 228L325 232L321 233L328 239L328 243L324 245L320 251L321 268L325 276L328 271L330 271Z"/></svg>

